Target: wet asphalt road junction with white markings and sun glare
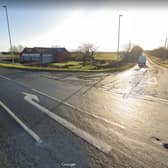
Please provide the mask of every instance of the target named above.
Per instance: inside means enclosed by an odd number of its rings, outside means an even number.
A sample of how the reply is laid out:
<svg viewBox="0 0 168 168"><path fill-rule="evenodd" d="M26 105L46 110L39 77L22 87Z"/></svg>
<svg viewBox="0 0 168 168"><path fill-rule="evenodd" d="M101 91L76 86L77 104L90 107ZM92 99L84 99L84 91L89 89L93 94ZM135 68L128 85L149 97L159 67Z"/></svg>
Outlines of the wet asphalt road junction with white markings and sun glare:
<svg viewBox="0 0 168 168"><path fill-rule="evenodd" d="M168 167L168 70L0 69L0 167Z"/></svg>

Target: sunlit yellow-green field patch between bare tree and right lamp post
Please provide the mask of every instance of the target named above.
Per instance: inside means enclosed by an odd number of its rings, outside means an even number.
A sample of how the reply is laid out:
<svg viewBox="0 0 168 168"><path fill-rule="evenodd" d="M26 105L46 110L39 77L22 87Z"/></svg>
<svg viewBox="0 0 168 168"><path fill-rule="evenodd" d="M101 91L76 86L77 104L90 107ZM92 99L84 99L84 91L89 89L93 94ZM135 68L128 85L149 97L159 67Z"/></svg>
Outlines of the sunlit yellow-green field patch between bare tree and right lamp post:
<svg viewBox="0 0 168 168"><path fill-rule="evenodd" d="M112 52L99 52L95 55L96 60L117 61L117 54Z"/></svg>

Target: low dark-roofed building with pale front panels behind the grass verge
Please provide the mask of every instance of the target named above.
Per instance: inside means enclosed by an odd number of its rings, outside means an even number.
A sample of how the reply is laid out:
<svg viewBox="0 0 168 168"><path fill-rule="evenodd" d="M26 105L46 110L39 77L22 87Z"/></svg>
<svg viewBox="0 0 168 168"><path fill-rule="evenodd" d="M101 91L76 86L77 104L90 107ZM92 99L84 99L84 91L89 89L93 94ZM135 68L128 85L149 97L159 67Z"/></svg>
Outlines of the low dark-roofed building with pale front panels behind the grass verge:
<svg viewBox="0 0 168 168"><path fill-rule="evenodd" d="M70 53L65 48L24 48L20 54L22 63L47 64L52 62L65 62L70 58Z"/></svg>

